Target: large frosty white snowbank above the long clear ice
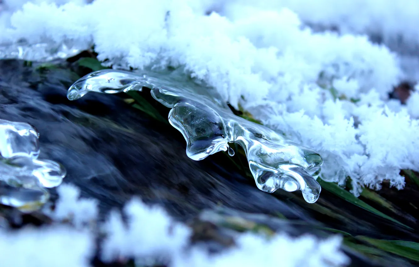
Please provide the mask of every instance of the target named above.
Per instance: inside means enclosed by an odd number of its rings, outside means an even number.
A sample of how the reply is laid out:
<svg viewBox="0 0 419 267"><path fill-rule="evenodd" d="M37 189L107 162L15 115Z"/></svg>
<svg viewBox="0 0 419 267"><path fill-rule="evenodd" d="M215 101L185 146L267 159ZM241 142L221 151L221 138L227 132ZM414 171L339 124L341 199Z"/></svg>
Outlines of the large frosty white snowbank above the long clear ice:
<svg viewBox="0 0 419 267"><path fill-rule="evenodd" d="M26 3L10 17L0 43L23 38L54 47L94 44L98 58L115 68L184 68L236 108L241 104L266 125L318 150L325 159L322 177L341 185L351 177L358 195L364 186L380 188L383 180L402 188L400 169L419 171L419 98L413 94L408 111L388 99L405 74L400 58L357 35L379 35L385 44L402 36L415 46L411 25L419 19L419 4L361 2ZM304 22L337 24L341 34L313 32Z"/></svg>

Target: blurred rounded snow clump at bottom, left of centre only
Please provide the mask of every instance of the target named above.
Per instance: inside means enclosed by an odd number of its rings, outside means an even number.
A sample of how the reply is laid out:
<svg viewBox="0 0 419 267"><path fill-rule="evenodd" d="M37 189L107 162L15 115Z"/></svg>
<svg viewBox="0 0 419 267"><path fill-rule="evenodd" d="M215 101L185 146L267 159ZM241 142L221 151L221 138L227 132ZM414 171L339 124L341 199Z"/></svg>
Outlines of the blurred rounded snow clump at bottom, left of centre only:
<svg viewBox="0 0 419 267"><path fill-rule="evenodd" d="M127 227L116 211L106 223L105 232L109 236L103 245L105 261L115 256L169 258L186 246L191 230L175 223L163 208L148 207L140 199L133 199L125 206L125 213Z"/></svg>

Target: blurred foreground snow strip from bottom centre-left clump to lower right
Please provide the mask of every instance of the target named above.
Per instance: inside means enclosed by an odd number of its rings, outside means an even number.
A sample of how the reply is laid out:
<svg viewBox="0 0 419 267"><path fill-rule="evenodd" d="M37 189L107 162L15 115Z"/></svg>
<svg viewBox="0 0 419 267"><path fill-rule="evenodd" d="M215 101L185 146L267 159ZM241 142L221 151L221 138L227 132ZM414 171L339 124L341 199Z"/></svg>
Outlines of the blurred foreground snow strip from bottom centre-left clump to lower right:
<svg viewBox="0 0 419 267"><path fill-rule="evenodd" d="M138 263L160 262L170 267L275 267L279 260L282 267L334 267L349 263L339 249L339 236L320 240L310 235L293 238L279 233L266 239L240 234L236 247L209 254L203 247L190 247L191 229L174 222L160 207L148 207L140 199L133 199L126 205L125 214L127 225L119 213L113 212L104 226L108 233L102 250L105 262L135 258Z"/></svg>

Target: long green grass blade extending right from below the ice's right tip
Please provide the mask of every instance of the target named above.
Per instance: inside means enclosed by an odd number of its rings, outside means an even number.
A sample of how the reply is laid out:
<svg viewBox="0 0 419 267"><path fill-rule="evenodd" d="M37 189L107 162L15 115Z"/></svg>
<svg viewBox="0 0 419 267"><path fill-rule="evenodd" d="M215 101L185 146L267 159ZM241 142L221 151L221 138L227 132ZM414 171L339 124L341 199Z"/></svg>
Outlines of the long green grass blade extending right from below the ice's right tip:
<svg viewBox="0 0 419 267"><path fill-rule="evenodd" d="M354 195L352 195L350 192L348 192L347 190L344 190L342 187L340 187L339 185L335 184L334 182L325 182L323 180L321 180L321 178L317 179L317 182L320 184L320 186L323 189L328 190L329 192L337 195L340 198L343 198L344 200L348 201L349 203L352 203L354 205L357 205L360 208L363 208L367 211L370 211L371 213L374 213L375 215L378 215L382 218L385 218L387 220L390 220L392 222L398 223L401 226L404 226L406 228L412 229L409 226L397 221L396 219L391 218L388 215L385 215L384 213L382 213L381 211L378 211L377 209L371 207L370 205L368 205L367 203L365 203L364 201L358 199L357 197L355 197Z"/></svg>

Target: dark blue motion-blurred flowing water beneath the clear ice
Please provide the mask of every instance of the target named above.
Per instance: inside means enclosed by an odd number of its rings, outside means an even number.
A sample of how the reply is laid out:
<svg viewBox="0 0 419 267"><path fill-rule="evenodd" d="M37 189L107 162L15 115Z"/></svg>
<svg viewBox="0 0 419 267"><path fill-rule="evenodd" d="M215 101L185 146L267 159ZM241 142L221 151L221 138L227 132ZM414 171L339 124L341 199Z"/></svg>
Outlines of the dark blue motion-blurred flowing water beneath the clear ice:
<svg viewBox="0 0 419 267"><path fill-rule="evenodd" d="M269 231L287 231L294 236L307 232L327 236L331 232L325 228L336 228L353 236L419 240L414 211L410 217L395 217L409 229L362 208L348 207L345 200L326 190L315 204L283 190L262 192L245 168L231 163L227 152L193 161L187 157L185 141L176 129L132 108L124 101L128 98L125 94L88 94L78 101L68 100L68 87L86 73L80 73L83 69L74 63L53 64L55 67L47 68L0 60L0 118L33 125L40 134L43 157L63 164L67 169L64 182L80 187L82 196L98 199L102 215L137 195L146 203L163 205L176 219L191 224L193 242L215 241L215 251L234 241L225 237L221 219L208 220L204 216L208 218L208 214L213 214L211 218L216 218L214 214L221 216L217 218L242 218ZM160 110L167 117L169 109ZM54 189L50 192L54 201ZM407 192L415 194L417 188ZM10 208L4 207L0 213L15 227L32 223L28 215L17 219L16 211ZM34 222L43 220L34 214ZM241 229L247 230L254 229ZM372 260L353 249L346 251L352 266L413 266L391 254Z"/></svg>

